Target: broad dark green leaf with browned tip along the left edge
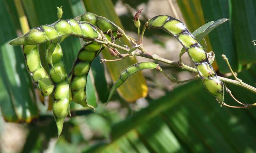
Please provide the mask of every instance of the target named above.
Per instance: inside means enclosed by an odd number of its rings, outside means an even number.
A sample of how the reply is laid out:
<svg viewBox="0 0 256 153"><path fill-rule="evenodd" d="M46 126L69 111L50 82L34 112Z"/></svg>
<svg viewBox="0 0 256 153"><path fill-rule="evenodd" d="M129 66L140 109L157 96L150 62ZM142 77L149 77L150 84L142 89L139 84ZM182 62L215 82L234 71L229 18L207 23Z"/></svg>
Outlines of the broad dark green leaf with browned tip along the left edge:
<svg viewBox="0 0 256 153"><path fill-rule="evenodd" d="M0 65L1 65L1 110L7 121L30 122L38 116L35 103L34 90L31 88L30 76L25 67L24 56L19 46L13 47L8 44L17 37L15 24L10 20L15 13L9 10L7 3L0 1L0 14L5 14L0 24ZM8 103L8 104L7 104Z"/></svg>

